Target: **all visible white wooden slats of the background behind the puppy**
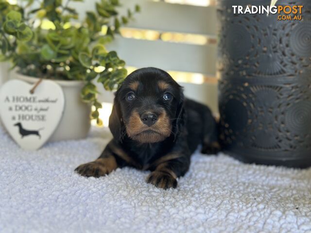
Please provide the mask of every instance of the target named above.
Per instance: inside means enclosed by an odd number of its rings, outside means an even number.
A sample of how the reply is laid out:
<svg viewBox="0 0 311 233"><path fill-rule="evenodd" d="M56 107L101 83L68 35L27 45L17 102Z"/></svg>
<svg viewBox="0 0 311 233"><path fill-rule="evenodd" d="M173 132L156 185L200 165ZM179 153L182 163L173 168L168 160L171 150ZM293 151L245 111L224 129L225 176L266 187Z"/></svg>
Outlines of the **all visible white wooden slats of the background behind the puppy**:
<svg viewBox="0 0 311 233"><path fill-rule="evenodd" d="M96 0L86 2L71 1L69 6L85 17L85 12L94 10ZM217 20L215 6L200 7L181 4L170 4L152 0L121 0L121 13L135 4L141 6L141 13L135 15L127 27L150 29L159 32L194 33L211 37L216 36ZM131 67L159 67L164 70L194 72L215 76L217 45L192 45L165 42L162 40L137 40L117 36L108 49L117 50L119 56ZM7 65L0 65L0 84L7 75ZM209 80L209 79L207 79ZM215 80L214 80L215 81ZM185 95L191 99L207 104L213 112L218 112L217 83L203 84L180 83L185 87ZM101 91L100 100L111 102L112 93Z"/></svg>

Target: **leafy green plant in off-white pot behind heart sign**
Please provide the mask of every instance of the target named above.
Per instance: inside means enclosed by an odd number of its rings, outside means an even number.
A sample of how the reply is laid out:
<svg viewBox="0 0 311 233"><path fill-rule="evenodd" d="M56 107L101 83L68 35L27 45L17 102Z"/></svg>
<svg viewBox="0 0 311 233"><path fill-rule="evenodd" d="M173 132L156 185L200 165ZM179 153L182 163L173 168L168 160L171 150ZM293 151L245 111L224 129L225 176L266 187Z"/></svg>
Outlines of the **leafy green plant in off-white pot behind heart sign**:
<svg viewBox="0 0 311 233"><path fill-rule="evenodd" d="M63 88L64 115L52 140L85 137L89 116L102 124L94 82L113 90L127 75L125 62L105 44L140 10L136 5L120 16L119 0L101 0L95 3L96 11L86 12L79 22L69 1L25 0L21 6L0 0L0 61L11 62L19 79L29 83L50 79Z"/></svg>

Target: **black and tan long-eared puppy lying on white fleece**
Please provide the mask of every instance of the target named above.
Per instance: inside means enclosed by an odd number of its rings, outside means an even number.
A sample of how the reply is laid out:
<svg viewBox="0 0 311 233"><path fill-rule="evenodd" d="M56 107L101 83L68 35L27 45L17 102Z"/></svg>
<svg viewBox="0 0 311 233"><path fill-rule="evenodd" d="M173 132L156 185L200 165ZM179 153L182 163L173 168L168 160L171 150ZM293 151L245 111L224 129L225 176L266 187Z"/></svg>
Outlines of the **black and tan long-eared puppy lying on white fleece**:
<svg viewBox="0 0 311 233"><path fill-rule="evenodd" d="M185 99L182 87L157 68L127 76L116 92L109 128L113 139L97 160L75 169L81 175L100 177L117 167L133 166L152 171L148 183L175 188L199 144L203 153L220 149L207 106Z"/></svg>

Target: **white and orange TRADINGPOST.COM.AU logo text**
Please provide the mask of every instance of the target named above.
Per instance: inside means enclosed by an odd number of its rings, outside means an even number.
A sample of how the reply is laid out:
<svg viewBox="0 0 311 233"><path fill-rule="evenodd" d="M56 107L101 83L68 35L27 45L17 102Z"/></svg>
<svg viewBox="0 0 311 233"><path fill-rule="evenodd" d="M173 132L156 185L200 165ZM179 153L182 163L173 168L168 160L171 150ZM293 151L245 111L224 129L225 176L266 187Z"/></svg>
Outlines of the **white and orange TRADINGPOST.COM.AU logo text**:
<svg viewBox="0 0 311 233"><path fill-rule="evenodd" d="M277 14L277 20L301 20L302 19L302 5L286 5L286 6L253 6L253 5L246 5L243 6L232 6L233 13L240 15L240 14Z"/></svg>

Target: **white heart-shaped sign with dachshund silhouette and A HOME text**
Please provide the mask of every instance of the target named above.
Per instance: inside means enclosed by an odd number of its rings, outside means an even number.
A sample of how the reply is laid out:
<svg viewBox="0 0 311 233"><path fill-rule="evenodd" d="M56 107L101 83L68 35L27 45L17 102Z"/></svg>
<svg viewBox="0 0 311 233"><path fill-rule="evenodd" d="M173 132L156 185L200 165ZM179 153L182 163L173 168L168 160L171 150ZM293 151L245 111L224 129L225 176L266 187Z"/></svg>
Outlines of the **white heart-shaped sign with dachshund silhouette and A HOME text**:
<svg viewBox="0 0 311 233"><path fill-rule="evenodd" d="M2 123L25 150L37 150L50 138L62 117L65 103L64 93L57 83L43 80L31 94L33 86L11 80L0 89Z"/></svg>

